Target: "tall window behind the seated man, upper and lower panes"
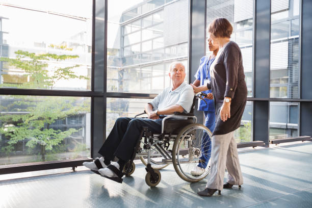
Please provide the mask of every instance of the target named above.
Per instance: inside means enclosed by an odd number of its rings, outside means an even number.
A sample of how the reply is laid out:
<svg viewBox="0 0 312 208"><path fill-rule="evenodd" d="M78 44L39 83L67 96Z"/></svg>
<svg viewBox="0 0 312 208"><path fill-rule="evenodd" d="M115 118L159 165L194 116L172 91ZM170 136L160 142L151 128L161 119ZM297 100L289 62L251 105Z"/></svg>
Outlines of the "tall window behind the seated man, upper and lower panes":
<svg viewBox="0 0 312 208"><path fill-rule="evenodd" d="M108 1L107 91L158 94L171 85L173 61L184 63L188 82L188 16L188 0ZM107 136L118 117L142 113L150 100L122 96L107 99Z"/></svg>

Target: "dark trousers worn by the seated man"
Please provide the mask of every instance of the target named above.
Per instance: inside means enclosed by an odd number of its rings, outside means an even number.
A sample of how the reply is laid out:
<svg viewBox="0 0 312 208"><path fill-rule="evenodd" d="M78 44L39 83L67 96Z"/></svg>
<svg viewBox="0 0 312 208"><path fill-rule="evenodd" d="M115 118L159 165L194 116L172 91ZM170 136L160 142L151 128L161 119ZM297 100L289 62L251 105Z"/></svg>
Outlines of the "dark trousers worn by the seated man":
<svg viewBox="0 0 312 208"><path fill-rule="evenodd" d="M105 161L113 161L115 156L123 161L130 160L134 147L139 140L142 127L148 127L152 133L160 133L162 131L162 120L118 118L98 153L105 158Z"/></svg>

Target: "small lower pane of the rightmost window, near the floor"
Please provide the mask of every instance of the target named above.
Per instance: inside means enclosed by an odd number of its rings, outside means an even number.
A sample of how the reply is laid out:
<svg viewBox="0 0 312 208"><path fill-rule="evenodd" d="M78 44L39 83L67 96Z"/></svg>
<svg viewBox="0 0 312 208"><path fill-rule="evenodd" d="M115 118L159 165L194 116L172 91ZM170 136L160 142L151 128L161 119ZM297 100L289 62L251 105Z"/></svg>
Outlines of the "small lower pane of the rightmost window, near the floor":
<svg viewBox="0 0 312 208"><path fill-rule="evenodd" d="M298 102L270 102L270 140L298 136Z"/></svg>

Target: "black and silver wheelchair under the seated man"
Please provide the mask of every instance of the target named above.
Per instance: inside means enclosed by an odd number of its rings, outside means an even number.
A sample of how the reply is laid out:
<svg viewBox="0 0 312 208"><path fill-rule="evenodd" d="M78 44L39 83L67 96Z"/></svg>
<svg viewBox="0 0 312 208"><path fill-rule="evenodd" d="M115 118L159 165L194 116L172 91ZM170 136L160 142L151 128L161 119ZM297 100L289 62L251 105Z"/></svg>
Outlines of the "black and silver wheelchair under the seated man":
<svg viewBox="0 0 312 208"><path fill-rule="evenodd" d="M164 117L162 120L162 132L160 134L159 133L153 134L149 131L148 127L142 127L140 139L138 140L138 143L135 146L133 157L131 160L128 161L128 163L125 165L125 168L124 168L124 173L126 176L131 175L134 172L135 165L133 163L133 160L136 156L139 156L139 157L146 157L147 156L147 165L145 168L147 171L147 174L145 176L145 181L146 181L146 184L150 187L157 186L161 180L160 171L158 169L152 168L151 164L165 165L165 167L168 164L173 164L174 169L177 172L177 174L182 179L189 181L189 182L199 181L199 180L203 179L207 174L209 174L210 168L207 167L205 172L202 175L194 176L194 178L192 178L192 177L188 177L187 175L181 173L181 171L179 170L179 167L178 167L178 166L180 166L180 164L184 164L184 163L185 164L198 163L198 160L191 160L194 155L197 156L196 158L199 158L199 155L201 154L200 148L193 148L192 147L192 141L196 140L196 134L197 134L196 131L194 130L194 128L203 129L203 131L206 132L205 134L207 134L210 138L212 135L208 128L206 128L202 124L196 123L197 117L194 116L194 114L193 114L194 106L195 106L195 100L197 98L203 99L203 98L201 98L201 96L206 96L206 94L199 93L199 94L194 96L193 104L192 104L190 113L185 114L185 113L175 112L172 115ZM137 116L140 116L143 114L145 114L145 111L144 111L144 113L136 115L135 118ZM192 119L193 122L182 127L182 129L179 129L178 134L171 134L172 132L174 132L174 129L172 129L172 131L170 131L169 133L167 133L168 129L165 132L165 124L166 124L166 121L169 121L169 119L171 120L172 118L184 118L183 120ZM175 119L175 120L183 121L181 119ZM190 135L184 134L184 132L187 132L189 129L190 129L190 131L193 131L193 132L195 131L194 134L190 134ZM177 148L176 145L178 145L176 143L177 143L177 141L180 141L180 138L182 138L182 137L183 137L184 141L188 142L189 148L183 149L183 150L178 150L178 153L176 153L176 148ZM144 138L144 141L143 141L143 138ZM181 141L182 141L182 139L181 139ZM170 145L169 142L174 142L173 146L175 146L175 148L173 147L172 150L168 150L169 145ZM143 144L143 149L140 147L141 143ZM143 152L143 150L146 150L146 152ZM157 151L158 153L151 153L151 150ZM197 153L196 153L196 151L197 151ZM181 157L185 157L185 155L189 155L189 158L188 158L188 160L180 161L179 159L176 159L174 157L174 156L176 156L179 158L180 155L182 155ZM163 157L162 161L161 162L154 161L152 159L152 157L155 157L155 156L156 157L157 156Z"/></svg>

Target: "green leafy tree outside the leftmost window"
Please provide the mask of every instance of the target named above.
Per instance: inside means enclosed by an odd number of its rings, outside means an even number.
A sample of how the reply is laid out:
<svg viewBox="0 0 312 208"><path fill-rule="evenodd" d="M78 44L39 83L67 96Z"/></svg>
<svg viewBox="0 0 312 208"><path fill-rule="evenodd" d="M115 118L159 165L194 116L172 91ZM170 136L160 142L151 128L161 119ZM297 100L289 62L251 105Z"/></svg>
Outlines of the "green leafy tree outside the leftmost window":
<svg viewBox="0 0 312 208"><path fill-rule="evenodd" d="M2 84L1 87L21 89L53 89L59 80L80 79L87 80L87 76L78 76L74 69L80 65L58 67L64 61L79 58L77 55L35 54L18 50L16 58L0 58L10 66L21 69L29 82L19 84ZM55 67L49 63L58 64ZM51 128L50 125L57 120L65 119L78 112L88 112L89 105L75 97L51 96L6 96L12 100L8 105L1 105L1 112L14 112L0 115L1 128L8 143L2 147L2 152L10 152L20 141L25 141L26 146L34 149L40 145L42 161L45 160L46 151L51 151L61 142L77 132L69 128L66 131Z"/></svg>

